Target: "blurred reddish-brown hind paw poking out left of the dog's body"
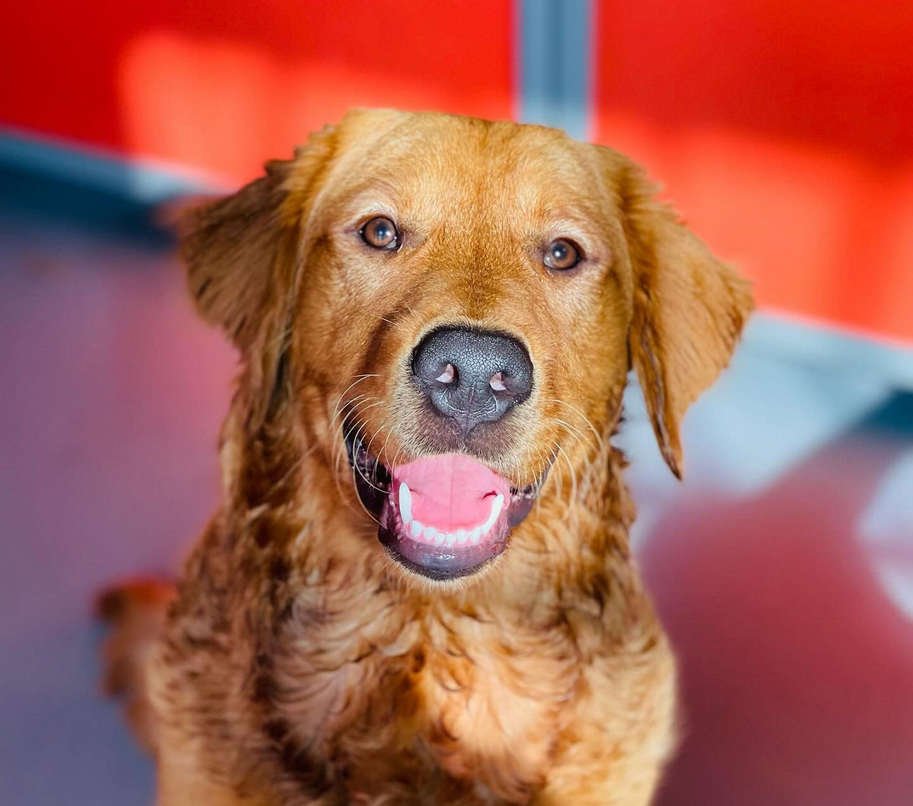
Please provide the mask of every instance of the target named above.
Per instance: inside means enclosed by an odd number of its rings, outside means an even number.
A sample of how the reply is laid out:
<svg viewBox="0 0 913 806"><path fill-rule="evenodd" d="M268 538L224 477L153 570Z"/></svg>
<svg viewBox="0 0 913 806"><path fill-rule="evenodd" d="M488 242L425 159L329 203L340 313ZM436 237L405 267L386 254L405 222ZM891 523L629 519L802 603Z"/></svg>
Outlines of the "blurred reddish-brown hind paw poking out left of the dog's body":
<svg viewBox="0 0 913 806"><path fill-rule="evenodd" d="M102 686L122 699L133 733L152 753L155 717L146 673L174 596L167 582L136 579L102 591L95 602L96 616L111 628L101 650Z"/></svg>

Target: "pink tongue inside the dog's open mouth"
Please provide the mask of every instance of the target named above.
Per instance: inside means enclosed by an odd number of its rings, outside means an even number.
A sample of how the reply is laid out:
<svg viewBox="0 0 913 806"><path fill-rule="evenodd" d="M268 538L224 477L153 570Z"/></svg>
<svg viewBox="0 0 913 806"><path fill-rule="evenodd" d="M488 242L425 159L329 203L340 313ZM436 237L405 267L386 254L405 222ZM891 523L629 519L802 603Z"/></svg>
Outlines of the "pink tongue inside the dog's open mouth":
<svg viewBox="0 0 913 806"><path fill-rule="evenodd" d="M463 454L419 459L393 469L394 497L405 483L412 492L412 516L438 531L475 529L491 512L492 498L510 500L510 483Z"/></svg>

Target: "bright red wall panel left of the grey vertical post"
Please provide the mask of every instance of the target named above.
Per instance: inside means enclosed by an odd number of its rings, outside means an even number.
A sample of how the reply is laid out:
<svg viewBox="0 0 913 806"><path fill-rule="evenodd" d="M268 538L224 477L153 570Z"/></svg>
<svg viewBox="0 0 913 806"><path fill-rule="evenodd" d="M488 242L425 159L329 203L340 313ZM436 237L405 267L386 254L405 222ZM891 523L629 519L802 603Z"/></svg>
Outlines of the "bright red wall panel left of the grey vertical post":
<svg viewBox="0 0 913 806"><path fill-rule="evenodd" d="M8 5L5 122L234 180L352 106L513 113L508 3Z"/></svg>

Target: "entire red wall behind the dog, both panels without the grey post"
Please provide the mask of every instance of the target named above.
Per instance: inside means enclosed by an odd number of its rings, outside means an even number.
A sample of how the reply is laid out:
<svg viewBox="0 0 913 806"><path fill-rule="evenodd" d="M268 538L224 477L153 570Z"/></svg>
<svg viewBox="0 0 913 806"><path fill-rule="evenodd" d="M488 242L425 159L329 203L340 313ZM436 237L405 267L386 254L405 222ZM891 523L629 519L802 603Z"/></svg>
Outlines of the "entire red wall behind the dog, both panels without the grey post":
<svg viewBox="0 0 913 806"><path fill-rule="evenodd" d="M518 2L7 4L0 116L236 183L354 105L511 117ZM596 139L762 305L913 340L913 3L595 6Z"/></svg>

